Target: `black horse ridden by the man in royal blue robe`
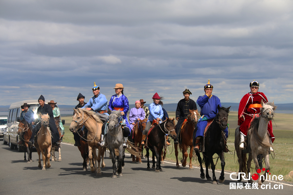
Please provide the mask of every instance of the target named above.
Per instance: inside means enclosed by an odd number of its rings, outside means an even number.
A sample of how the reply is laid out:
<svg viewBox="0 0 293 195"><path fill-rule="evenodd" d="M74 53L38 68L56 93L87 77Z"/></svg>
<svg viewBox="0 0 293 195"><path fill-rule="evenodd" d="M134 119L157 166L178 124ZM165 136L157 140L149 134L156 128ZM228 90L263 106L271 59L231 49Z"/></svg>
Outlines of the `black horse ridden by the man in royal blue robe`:
<svg viewBox="0 0 293 195"><path fill-rule="evenodd" d="M231 107L231 106L230 106ZM213 161L213 155L217 153L219 155L219 158L221 160L221 176L219 177L219 182L223 183L225 181L224 177L224 167L225 167L225 158L224 158L224 149L225 149L225 142L224 139L226 139L224 135L224 130L228 126L228 113L229 109L220 107L218 105L218 113L216 115L216 118L214 118L213 122L209 126L206 136L205 136L205 152L202 152L203 158L205 160L205 167L206 167L206 177L208 181L211 181L211 177L209 177L209 165L211 165L212 172L213 172L213 184L218 184L218 181L215 176L215 168L216 165ZM193 143L195 144L195 139L193 139ZM200 157L200 153L198 151L195 151L196 156L198 157L198 162L200 163L200 177L202 179L205 179L205 173L202 168L202 158Z"/></svg>

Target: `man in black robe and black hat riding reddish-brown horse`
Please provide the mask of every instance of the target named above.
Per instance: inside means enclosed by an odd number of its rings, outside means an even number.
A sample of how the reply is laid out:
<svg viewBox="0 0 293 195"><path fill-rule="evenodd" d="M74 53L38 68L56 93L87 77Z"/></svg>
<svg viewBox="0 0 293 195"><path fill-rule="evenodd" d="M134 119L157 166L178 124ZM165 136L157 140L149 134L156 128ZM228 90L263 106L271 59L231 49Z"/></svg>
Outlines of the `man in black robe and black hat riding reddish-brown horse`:
<svg viewBox="0 0 293 195"><path fill-rule="evenodd" d="M184 122L185 119L187 119L187 116L189 115L189 109L197 111L197 106L195 101L189 98L191 94L192 93L188 89L185 89L185 91L183 92L184 99L181 99L177 104L176 120L178 120L178 122L175 128L177 137L174 140L174 144L178 144L178 137L180 137L178 135L178 132L182 123Z"/></svg>

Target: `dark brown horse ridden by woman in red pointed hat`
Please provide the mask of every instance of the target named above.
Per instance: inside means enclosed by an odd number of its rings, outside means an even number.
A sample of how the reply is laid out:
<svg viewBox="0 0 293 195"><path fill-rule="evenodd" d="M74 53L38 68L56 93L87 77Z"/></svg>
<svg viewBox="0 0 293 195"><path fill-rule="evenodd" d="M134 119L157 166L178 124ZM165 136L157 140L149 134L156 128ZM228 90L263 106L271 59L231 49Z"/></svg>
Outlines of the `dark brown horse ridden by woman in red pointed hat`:
<svg viewBox="0 0 293 195"><path fill-rule="evenodd" d="M150 129L147 135L147 169L150 169L149 164L149 149L152 152L153 166L152 169L156 168L156 172L162 171L161 169L161 153L164 146L166 145L166 134L169 134L172 139L175 139L177 134L175 132L174 118L171 120L168 118L161 124L155 125L154 128ZM157 159L155 167L155 156Z"/></svg>

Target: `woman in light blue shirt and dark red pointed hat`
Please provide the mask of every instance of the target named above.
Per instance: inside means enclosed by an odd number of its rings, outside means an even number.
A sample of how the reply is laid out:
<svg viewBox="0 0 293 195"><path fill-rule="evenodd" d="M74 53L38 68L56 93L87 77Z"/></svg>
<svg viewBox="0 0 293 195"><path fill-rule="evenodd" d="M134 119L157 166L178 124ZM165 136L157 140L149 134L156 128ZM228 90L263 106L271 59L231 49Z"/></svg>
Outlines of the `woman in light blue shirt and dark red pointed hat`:
<svg viewBox="0 0 293 195"><path fill-rule="evenodd" d="M161 122L164 112L162 110L162 106L159 104L160 102L160 96L158 93L155 93L153 96L153 103L149 105L149 120L147 121L146 128L142 132L142 146L145 144L145 138L147 133L149 132L149 129L151 128L151 124L153 120L156 120L157 122Z"/></svg>

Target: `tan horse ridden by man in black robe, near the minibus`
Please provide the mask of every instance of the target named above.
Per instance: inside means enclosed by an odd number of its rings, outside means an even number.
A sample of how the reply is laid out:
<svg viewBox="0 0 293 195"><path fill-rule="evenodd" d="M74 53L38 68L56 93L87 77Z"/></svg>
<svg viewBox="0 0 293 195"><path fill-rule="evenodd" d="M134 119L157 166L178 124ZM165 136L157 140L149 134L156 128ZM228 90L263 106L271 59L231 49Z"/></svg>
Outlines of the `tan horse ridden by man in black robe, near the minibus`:
<svg viewBox="0 0 293 195"><path fill-rule="evenodd" d="M51 143L51 130L49 128L49 120L50 116L48 114L42 115L39 113L40 116L40 123L42 124L41 130L38 132L36 136L36 141L35 141L35 147L38 151L39 155L39 165L38 167L41 168L41 158L40 155L42 153L42 159L43 159L43 168L42 170L46 170L45 167L50 168L50 156L51 156L51 148L52 148L52 143Z"/></svg>

